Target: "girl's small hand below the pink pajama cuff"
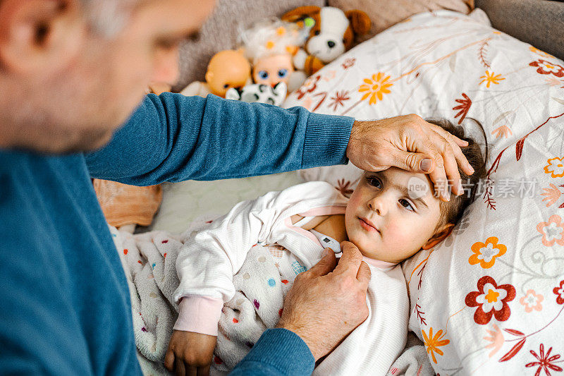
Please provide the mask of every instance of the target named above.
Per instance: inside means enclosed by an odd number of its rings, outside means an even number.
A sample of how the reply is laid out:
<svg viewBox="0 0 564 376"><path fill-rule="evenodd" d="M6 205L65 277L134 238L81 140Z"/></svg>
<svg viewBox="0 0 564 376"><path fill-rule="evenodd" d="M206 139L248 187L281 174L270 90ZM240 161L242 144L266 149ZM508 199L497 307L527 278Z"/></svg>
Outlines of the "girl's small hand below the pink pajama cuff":
<svg viewBox="0 0 564 376"><path fill-rule="evenodd" d="M216 336L175 330L168 343L164 366L176 375L209 375Z"/></svg>

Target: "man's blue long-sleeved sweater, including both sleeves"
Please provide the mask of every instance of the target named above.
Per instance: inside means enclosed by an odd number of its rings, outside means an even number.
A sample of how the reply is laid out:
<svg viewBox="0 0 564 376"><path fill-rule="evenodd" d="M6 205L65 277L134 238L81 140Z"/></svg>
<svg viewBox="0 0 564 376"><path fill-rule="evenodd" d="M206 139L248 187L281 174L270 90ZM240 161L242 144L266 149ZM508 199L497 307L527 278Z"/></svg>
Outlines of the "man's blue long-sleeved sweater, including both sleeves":
<svg viewBox="0 0 564 376"><path fill-rule="evenodd" d="M0 373L138 375L128 286L91 177L135 185L345 162L353 119L209 96L149 95L101 150L0 150ZM272 329L235 370L311 372Z"/></svg>

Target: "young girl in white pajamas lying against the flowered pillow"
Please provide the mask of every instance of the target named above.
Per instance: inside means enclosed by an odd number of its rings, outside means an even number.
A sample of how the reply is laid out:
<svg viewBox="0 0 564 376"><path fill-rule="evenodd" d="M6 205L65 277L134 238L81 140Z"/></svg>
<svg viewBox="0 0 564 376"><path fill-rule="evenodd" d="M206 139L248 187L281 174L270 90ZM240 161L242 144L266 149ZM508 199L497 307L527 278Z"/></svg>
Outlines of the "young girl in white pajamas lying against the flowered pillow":
<svg viewBox="0 0 564 376"><path fill-rule="evenodd" d="M398 263L446 238L486 175L479 145L460 126L434 123L469 142L462 152L475 172L459 169L467 194L441 202L426 174L392 167L365 172L350 199L329 183L309 182L240 202L180 250L180 315L168 353L180 361L179 354L197 353L211 363L215 346L211 370L230 370L276 325L296 275L327 245L338 253L348 240L372 272L369 316L314 374L385 375L407 336L409 301Z"/></svg>

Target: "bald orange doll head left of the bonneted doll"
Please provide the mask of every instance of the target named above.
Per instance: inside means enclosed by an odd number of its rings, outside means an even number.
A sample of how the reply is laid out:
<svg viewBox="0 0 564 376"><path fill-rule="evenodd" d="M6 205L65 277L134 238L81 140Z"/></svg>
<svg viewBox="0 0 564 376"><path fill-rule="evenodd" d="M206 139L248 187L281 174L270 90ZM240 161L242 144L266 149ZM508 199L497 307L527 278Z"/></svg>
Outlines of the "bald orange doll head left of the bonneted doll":
<svg viewBox="0 0 564 376"><path fill-rule="evenodd" d="M240 51L226 49L219 51L209 61L206 82L209 91L219 97L225 97L231 87L245 86L251 75L251 66Z"/></svg>

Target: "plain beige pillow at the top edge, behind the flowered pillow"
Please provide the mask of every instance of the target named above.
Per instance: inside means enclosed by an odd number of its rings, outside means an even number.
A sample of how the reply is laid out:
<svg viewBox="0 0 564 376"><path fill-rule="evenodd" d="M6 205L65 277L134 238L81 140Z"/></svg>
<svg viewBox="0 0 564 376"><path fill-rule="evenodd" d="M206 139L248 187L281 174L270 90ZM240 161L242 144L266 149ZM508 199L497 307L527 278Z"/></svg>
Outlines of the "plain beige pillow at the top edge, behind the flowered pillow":
<svg viewBox="0 0 564 376"><path fill-rule="evenodd" d="M329 0L329 6L348 11L358 9L364 11L372 20L367 37L374 37L401 20L424 11L448 9L460 13L470 13L474 8L474 0Z"/></svg>

